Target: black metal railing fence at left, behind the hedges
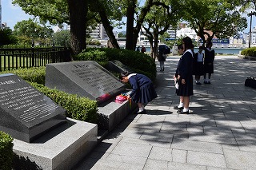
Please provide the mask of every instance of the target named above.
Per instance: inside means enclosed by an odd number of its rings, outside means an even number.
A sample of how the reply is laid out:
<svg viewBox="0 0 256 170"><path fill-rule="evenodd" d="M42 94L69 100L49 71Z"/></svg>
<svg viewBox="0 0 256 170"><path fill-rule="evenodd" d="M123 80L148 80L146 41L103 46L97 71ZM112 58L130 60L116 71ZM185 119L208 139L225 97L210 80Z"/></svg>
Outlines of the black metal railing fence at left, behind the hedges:
<svg viewBox="0 0 256 170"><path fill-rule="evenodd" d="M0 71L69 61L68 47L0 48Z"/></svg>

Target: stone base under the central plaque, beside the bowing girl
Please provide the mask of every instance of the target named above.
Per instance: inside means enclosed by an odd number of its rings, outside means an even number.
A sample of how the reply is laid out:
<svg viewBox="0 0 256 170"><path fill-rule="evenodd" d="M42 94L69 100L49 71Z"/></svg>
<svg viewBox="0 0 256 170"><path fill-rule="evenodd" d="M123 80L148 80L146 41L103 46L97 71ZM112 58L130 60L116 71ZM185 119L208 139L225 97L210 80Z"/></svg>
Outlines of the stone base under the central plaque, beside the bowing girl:
<svg viewBox="0 0 256 170"><path fill-rule="evenodd" d="M134 112L138 105L134 102L115 102L115 99L98 106L99 124L98 128L108 131L113 130L128 114Z"/></svg>

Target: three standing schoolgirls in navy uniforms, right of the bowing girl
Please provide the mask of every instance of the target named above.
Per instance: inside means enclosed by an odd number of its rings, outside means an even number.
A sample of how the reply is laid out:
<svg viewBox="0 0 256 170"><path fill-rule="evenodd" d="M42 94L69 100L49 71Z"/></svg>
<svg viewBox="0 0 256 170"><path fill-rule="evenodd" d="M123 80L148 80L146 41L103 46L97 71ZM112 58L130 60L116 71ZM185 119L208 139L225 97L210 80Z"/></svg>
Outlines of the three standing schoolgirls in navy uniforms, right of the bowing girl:
<svg viewBox="0 0 256 170"><path fill-rule="evenodd" d="M179 105L174 106L177 113L189 113L190 96L193 95L193 75L197 85L201 85L200 76L204 76L204 83L210 84L211 74L214 73L214 49L212 42L207 42L206 47L200 46L198 53L194 53L194 45L191 38L182 39L182 45L178 45L178 53L182 55L174 74L177 82L176 94L180 97ZM205 53L202 53L202 50ZM206 77L208 74L208 77Z"/></svg>

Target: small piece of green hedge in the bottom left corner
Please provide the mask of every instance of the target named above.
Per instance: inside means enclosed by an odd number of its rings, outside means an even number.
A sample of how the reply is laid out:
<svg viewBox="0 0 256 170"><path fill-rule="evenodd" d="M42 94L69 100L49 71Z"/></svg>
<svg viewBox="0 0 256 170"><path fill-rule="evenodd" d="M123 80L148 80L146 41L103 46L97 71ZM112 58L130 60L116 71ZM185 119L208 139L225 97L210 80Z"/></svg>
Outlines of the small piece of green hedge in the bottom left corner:
<svg viewBox="0 0 256 170"><path fill-rule="evenodd" d="M12 161L14 157L13 152L13 138L0 131L0 169L9 170L12 169Z"/></svg>

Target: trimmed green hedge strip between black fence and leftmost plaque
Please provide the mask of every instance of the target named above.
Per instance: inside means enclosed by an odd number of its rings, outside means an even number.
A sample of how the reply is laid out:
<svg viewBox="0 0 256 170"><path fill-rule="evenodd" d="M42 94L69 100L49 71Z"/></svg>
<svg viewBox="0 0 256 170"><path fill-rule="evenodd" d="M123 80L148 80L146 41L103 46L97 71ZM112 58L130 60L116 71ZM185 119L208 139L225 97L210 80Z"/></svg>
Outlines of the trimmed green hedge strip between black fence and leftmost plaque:
<svg viewBox="0 0 256 170"><path fill-rule="evenodd" d="M4 73L14 73L21 77L25 81L37 82L38 84L45 84L46 77L46 67L32 67L30 69L12 69L0 72Z"/></svg>

